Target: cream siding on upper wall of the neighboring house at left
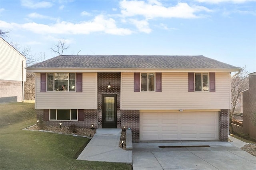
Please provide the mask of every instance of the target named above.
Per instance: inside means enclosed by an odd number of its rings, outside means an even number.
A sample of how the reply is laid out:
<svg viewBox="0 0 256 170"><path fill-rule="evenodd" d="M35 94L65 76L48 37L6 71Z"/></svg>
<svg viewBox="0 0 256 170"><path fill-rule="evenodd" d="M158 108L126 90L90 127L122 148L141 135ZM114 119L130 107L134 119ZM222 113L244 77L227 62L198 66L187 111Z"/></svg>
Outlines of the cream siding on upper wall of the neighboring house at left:
<svg viewBox="0 0 256 170"><path fill-rule="evenodd" d="M23 61L23 62L22 62ZM26 81L26 58L0 38L0 79Z"/></svg>

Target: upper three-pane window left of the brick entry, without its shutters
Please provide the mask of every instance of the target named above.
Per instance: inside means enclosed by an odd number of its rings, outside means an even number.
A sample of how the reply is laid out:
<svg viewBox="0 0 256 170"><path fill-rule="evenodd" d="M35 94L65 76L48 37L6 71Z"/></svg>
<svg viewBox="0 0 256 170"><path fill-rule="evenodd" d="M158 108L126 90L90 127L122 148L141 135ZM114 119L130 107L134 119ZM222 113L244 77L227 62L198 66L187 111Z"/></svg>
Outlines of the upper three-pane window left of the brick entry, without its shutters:
<svg viewBox="0 0 256 170"><path fill-rule="evenodd" d="M47 91L76 91L76 73L47 73Z"/></svg>

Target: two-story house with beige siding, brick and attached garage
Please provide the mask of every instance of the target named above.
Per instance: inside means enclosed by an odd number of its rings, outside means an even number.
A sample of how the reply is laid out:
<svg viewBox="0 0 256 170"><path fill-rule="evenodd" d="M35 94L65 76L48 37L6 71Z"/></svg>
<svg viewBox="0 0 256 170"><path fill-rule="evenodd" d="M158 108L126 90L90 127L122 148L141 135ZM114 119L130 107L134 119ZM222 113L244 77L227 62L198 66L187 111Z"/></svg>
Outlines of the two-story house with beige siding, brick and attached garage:
<svg viewBox="0 0 256 170"><path fill-rule="evenodd" d="M59 55L36 72L47 125L132 129L142 140L228 140L230 73L204 56Z"/></svg>

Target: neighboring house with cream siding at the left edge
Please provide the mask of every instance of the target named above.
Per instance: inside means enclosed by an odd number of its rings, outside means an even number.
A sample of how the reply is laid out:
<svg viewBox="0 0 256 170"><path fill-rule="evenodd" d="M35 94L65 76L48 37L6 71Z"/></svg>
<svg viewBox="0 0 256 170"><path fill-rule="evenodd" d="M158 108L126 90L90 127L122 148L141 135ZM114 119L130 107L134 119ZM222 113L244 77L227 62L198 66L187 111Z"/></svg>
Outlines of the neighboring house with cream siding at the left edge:
<svg viewBox="0 0 256 170"><path fill-rule="evenodd" d="M0 103L24 100L26 57L0 38Z"/></svg>

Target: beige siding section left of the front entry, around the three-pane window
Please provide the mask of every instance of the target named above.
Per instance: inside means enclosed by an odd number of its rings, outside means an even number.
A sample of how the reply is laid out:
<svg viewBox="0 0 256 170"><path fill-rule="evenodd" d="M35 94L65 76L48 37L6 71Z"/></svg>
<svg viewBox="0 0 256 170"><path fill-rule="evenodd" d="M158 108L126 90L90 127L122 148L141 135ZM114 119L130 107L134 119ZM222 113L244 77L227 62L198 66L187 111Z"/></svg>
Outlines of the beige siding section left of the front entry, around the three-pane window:
<svg viewBox="0 0 256 170"><path fill-rule="evenodd" d="M83 92L40 92L36 73L35 109L97 109L97 73L83 73Z"/></svg>

